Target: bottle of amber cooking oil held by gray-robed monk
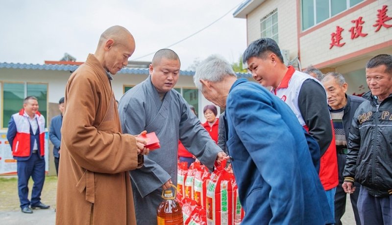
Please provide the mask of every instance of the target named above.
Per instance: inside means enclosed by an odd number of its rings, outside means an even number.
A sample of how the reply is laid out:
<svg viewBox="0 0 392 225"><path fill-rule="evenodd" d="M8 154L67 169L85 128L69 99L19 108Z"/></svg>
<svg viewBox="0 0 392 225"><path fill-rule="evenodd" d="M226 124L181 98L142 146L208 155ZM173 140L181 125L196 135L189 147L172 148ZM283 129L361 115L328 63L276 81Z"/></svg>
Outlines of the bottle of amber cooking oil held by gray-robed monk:
<svg viewBox="0 0 392 225"><path fill-rule="evenodd" d="M175 200L177 187L171 185L174 190L166 189L162 191L162 199L164 199L158 206L157 222L158 225L183 225L184 219L182 217L182 209L178 201Z"/></svg>

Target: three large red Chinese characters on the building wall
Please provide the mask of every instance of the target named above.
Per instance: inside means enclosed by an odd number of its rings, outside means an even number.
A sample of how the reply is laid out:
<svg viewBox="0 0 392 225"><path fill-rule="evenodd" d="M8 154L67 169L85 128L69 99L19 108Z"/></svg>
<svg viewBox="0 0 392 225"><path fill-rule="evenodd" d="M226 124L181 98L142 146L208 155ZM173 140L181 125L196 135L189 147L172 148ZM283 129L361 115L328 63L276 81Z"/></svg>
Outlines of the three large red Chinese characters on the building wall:
<svg viewBox="0 0 392 225"><path fill-rule="evenodd" d="M390 28L392 24L386 24L386 22L392 20L392 17L387 16L387 5L383 5L382 9L377 10L377 20L376 23L373 25L374 27L377 27L374 32L377 32L380 30L382 26L385 28ZM351 33L351 40L354 40L358 37L365 37L368 35L368 33L363 33L362 28L363 24L365 21L362 21L363 17L360 16L356 20L352 20L351 23L354 24L348 31ZM332 49L332 47L342 47L345 42L341 42L343 40L342 37L342 31L344 29L340 26L336 26L336 31L331 33L331 43L329 44L329 49Z"/></svg>

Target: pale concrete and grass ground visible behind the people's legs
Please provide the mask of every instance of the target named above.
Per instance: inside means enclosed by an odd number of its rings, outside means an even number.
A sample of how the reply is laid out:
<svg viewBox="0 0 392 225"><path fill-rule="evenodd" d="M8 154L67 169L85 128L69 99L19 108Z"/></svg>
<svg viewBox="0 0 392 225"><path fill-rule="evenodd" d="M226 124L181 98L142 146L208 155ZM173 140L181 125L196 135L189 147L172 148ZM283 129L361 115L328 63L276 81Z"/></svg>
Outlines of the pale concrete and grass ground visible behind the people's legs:
<svg viewBox="0 0 392 225"><path fill-rule="evenodd" d="M32 180L29 182L31 193ZM32 214L22 213L16 186L16 178L0 178L0 224L1 225L54 225L56 212L57 178L47 176L42 192L42 202L49 204L49 209L33 209ZM15 191L14 191L15 190ZM342 218L343 225L355 225L351 202L347 198L346 212Z"/></svg>

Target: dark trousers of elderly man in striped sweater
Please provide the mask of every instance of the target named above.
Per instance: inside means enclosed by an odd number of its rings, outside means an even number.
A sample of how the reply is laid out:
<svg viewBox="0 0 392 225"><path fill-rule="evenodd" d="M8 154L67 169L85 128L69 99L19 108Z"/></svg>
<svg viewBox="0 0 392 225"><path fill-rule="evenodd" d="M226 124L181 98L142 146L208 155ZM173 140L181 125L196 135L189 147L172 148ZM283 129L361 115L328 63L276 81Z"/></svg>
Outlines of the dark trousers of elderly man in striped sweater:
<svg viewBox="0 0 392 225"><path fill-rule="evenodd" d="M346 210L346 197L347 197L347 193L345 193L342 188L343 170L346 163L347 155L338 153L337 156L338 156L339 184L336 187L336 193L335 193L335 223L337 225L342 225L342 221L340 221L340 219L343 217L343 214ZM350 194L350 200L351 200L352 209L354 211L355 223L357 225L361 225L359 214L358 214L358 207L357 207L359 191L360 191L360 185L358 183L355 183L355 192L353 194Z"/></svg>

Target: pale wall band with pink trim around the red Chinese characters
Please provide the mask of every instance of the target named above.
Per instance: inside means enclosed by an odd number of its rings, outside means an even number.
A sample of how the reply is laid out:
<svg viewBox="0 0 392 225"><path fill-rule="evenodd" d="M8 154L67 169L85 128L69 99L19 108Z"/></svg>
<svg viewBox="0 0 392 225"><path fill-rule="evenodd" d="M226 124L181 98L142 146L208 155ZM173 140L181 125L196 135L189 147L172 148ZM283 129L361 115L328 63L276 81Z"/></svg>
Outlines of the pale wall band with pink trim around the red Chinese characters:
<svg viewBox="0 0 392 225"><path fill-rule="evenodd" d="M318 65L320 68L336 68L363 58L368 59L369 56L366 54L376 50L392 53L391 43L388 44L392 40L392 28L381 27L378 32L374 32L375 27L373 27L377 20L377 9L381 9L383 5L388 5L389 11L387 15L392 15L391 3L391 0L367 0L315 27L301 32L299 35L299 46L302 66L306 67L313 64ZM358 19L360 16L363 17L362 21L365 22L362 32L368 33L368 35L351 40L349 29L354 26L351 21ZM341 43L345 44L342 47L334 46L332 49L329 49L331 33L336 32L336 26L338 25L344 29L342 31L343 39ZM342 60L333 60L340 57L344 58ZM352 71L357 69L359 68L352 68Z"/></svg>

